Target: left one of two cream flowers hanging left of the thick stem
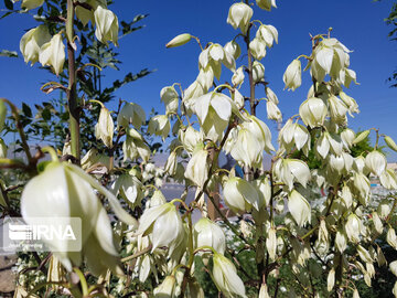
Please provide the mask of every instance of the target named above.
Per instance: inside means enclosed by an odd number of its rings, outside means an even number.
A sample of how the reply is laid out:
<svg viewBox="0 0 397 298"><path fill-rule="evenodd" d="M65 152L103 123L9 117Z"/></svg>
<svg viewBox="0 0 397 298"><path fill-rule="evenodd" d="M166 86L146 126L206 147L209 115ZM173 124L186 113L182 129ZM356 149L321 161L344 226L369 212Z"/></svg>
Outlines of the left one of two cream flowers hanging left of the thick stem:
<svg viewBox="0 0 397 298"><path fill-rule="evenodd" d="M51 34L46 25L39 25L23 34L20 41L20 51L24 62L31 62L31 65L36 63L39 61L40 47L50 40Z"/></svg>

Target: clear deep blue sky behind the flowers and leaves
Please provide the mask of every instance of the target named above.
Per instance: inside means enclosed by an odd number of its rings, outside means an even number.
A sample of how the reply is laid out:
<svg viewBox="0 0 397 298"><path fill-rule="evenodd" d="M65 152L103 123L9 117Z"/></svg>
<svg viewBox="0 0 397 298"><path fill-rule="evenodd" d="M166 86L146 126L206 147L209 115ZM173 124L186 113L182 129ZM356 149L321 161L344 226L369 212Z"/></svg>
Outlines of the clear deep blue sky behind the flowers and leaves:
<svg viewBox="0 0 397 298"><path fill-rule="evenodd" d="M117 96L136 102L146 110L154 107L163 113L160 104L160 89L175 82L185 88L197 75L198 46L191 42L182 47L165 49L164 44L174 35L189 32L202 42L225 44L238 32L226 23L227 12L233 1L228 0L115 0L111 6L119 20L131 20L138 13L149 13L142 21L143 30L120 40L121 72L108 71L108 82L128 72L141 68L157 70L153 74L122 87ZM386 78L396 68L397 43L390 42L390 30L384 23L393 1L383 0L278 0L278 9L266 12L255 9L254 19L272 24L279 31L279 44L268 51L262 63L266 78L280 99L285 118L298 113L300 103L305 99L309 87L309 73L303 74L303 85L294 93L283 91L282 74L288 64L300 54L310 54L309 33L325 33L332 26L332 35L354 52L351 53L351 68L356 71L358 86L346 91L354 97L361 114L350 119L353 129L380 128L383 134L397 141L397 88L389 88ZM11 15L0 20L0 49L18 50L19 41L25 29L35 24L26 14ZM39 91L40 83L51 75L40 71L37 65L26 66L23 60L0 57L0 96L19 104L23 100L31 105L49 100ZM237 61L240 65L242 61ZM232 73L224 70L224 78L229 81ZM261 96L259 93L258 96ZM266 117L265 105L258 109ZM276 125L268 121L269 127ZM275 131L275 129L272 129ZM276 139L273 134L273 139ZM374 139L374 136L373 136ZM397 161L390 153L389 160Z"/></svg>

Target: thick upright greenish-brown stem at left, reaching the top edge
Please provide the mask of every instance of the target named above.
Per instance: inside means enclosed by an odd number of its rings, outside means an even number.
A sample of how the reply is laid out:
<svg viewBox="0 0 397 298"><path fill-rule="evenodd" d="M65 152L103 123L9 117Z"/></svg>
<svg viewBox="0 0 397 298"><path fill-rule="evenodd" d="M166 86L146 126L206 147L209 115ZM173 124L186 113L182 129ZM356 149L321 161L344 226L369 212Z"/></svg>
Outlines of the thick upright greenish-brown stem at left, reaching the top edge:
<svg viewBox="0 0 397 298"><path fill-rule="evenodd" d="M75 50L73 46L73 25L74 25L74 4L73 0L67 0L67 20L66 20L66 36L67 36L67 57L68 57L68 87L67 102L69 111L69 131L72 140L72 156L74 156L78 163L81 159L79 146L79 108L77 104L76 92L76 61Z"/></svg>

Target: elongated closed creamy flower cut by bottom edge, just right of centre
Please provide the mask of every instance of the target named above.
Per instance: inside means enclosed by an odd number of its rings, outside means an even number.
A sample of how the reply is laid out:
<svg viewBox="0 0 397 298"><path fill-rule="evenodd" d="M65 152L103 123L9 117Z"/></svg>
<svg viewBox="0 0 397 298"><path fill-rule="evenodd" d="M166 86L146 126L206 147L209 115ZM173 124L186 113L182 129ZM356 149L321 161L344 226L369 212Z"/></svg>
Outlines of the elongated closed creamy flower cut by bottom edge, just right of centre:
<svg viewBox="0 0 397 298"><path fill-rule="evenodd" d="M243 280L234 264L222 254L214 254L212 277L216 287L228 298L246 297Z"/></svg>

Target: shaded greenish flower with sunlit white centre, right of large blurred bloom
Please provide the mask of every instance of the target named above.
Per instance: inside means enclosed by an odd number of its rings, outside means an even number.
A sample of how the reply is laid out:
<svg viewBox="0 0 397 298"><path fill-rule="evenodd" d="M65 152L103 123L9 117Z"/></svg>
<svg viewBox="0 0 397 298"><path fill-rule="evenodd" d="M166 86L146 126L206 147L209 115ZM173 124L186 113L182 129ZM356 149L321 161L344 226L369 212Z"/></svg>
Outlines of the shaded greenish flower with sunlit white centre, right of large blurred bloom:
<svg viewBox="0 0 397 298"><path fill-rule="evenodd" d="M140 205L143 199L142 187L142 182L136 175L125 173L112 183L111 191L116 196L120 194L131 207L135 207Z"/></svg>

